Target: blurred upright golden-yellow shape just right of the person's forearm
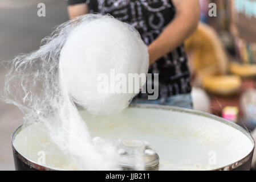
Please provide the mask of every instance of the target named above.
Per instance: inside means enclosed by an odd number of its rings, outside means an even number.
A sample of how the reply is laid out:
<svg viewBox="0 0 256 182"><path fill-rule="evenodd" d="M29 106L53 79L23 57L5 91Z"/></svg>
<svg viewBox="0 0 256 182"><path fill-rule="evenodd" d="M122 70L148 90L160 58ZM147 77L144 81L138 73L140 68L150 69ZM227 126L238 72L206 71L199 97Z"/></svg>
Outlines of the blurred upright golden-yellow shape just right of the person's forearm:
<svg viewBox="0 0 256 182"><path fill-rule="evenodd" d="M192 72L208 75L224 75L227 72L228 58L224 47L214 29L204 23L185 42L190 53Z"/></svg>

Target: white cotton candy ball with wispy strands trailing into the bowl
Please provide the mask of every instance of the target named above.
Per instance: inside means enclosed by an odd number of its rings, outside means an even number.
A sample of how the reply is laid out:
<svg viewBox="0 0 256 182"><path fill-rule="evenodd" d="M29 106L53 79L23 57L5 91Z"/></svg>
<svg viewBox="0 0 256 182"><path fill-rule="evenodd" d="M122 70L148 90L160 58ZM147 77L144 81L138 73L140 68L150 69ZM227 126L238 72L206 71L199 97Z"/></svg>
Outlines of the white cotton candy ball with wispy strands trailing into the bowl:
<svg viewBox="0 0 256 182"><path fill-rule="evenodd" d="M36 152L44 151L45 165L60 169L120 169L115 143L91 138L77 105L95 115L115 114L145 84L145 79L133 85L117 78L135 92L99 92L103 82L111 88L112 72L147 73L147 46L133 27L109 15L79 16L56 27L38 50L6 64L2 99L24 113L26 136L16 142L22 154L36 160ZM33 143L40 143L36 152Z"/></svg>

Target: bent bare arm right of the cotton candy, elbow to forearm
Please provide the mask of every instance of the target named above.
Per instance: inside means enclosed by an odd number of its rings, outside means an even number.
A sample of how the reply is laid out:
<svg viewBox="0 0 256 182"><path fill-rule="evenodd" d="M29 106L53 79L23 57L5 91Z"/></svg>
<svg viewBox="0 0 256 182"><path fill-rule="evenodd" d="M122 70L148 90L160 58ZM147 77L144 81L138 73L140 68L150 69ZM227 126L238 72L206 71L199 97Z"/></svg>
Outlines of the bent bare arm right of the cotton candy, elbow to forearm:
<svg viewBox="0 0 256 182"><path fill-rule="evenodd" d="M148 46L149 64L180 46L197 28L200 19L198 0L173 0L176 15L159 37Z"/></svg>

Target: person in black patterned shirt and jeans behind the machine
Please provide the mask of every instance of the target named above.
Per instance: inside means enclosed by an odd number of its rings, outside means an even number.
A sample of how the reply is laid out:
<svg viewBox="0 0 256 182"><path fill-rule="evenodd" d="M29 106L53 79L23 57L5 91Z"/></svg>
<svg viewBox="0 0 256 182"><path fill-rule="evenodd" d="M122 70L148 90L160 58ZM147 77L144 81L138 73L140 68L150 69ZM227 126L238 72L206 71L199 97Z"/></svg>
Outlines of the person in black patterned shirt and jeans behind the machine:
<svg viewBox="0 0 256 182"><path fill-rule="evenodd" d="M148 73L159 73L159 96L148 100L148 93L140 93L133 103L192 109L183 42L197 28L198 0L67 0L67 3L71 19L87 13L110 14L139 31L148 45Z"/></svg>

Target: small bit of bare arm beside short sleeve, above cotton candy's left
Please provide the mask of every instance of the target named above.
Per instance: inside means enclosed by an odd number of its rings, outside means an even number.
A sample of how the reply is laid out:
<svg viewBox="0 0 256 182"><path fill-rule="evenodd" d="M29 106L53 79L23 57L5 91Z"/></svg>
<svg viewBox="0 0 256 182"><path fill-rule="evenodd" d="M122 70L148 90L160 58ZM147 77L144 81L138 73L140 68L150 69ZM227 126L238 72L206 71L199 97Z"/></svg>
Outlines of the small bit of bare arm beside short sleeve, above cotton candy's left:
<svg viewBox="0 0 256 182"><path fill-rule="evenodd" d="M80 2L83 2L83 1L80 1ZM68 10L68 15L70 16L70 19L73 19L76 16L85 15L89 11L88 6L85 2L77 3L74 5L70 3L67 7L67 10Z"/></svg>

